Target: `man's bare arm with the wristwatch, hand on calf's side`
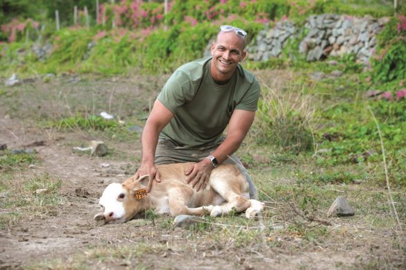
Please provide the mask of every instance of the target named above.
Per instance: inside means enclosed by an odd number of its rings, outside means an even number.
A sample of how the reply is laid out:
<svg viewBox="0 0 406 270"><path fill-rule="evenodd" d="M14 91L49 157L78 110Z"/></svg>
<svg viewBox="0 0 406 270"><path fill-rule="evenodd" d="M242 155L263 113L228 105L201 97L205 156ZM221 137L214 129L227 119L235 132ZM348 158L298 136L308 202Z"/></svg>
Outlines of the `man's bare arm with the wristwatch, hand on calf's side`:
<svg viewBox="0 0 406 270"><path fill-rule="evenodd" d="M231 116L230 123L228 123L228 131L226 140L217 147L212 156L215 156L219 163L225 161L228 156L238 150L242 141L255 118L255 111L244 111L236 109ZM205 188L212 172L213 166L209 159L203 159L203 161L196 163L185 171L188 175L186 182L191 183L192 186L197 186L197 190Z"/></svg>

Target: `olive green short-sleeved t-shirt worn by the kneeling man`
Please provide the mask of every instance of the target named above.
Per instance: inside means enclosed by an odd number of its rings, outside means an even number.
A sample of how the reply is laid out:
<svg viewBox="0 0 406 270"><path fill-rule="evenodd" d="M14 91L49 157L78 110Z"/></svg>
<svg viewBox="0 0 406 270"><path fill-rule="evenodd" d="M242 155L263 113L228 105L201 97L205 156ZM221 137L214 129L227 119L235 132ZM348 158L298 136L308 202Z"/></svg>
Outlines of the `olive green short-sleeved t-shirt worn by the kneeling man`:
<svg viewBox="0 0 406 270"><path fill-rule="evenodd" d="M158 100L174 114L160 134L180 146L202 147L219 143L235 109L255 111L260 84L238 65L226 85L214 82L212 57L180 66L162 88Z"/></svg>

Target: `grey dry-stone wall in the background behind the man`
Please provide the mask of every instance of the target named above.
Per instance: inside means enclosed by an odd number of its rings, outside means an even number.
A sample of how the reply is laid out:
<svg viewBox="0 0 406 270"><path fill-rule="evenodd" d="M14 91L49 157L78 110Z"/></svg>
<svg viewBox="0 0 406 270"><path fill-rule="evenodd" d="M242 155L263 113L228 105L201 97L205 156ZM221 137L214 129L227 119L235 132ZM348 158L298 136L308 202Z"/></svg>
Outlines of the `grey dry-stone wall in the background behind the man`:
<svg viewBox="0 0 406 270"><path fill-rule="evenodd" d="M321 60L328 56L342 56L354 53L357 60L367 64L376 46L377 33L389 21L384 17L350 17L346 15L315 15L307 18L307 35L299 40L299 53L306 55L307 61ZM289 21L278 23L273 28L267 26L247 46L248 57L254 61L267 61L281 55L289 39L298 39L303 29Z"/></svg>

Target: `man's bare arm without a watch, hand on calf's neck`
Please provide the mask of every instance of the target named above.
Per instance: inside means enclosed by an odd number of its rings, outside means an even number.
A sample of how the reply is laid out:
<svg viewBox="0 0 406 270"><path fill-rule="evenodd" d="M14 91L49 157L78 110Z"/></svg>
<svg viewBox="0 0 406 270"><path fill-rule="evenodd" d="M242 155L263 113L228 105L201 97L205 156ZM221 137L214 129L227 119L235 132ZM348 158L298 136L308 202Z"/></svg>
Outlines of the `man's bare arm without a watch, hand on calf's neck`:
<svg viewBox="0 0 406 270"><path fill-rule="evenodd" d="M137 172L135 172L135 178L141 177L145 174L149 174L151 177L147 191L151 189L154 177L158 182L160 181L160 174L155 167L155 150L161 130L173 117L174 114L172 114L167 107L165 107L160 101L155 100L151 114L146 120L144 131L142 132L141 166Z"/></svg>

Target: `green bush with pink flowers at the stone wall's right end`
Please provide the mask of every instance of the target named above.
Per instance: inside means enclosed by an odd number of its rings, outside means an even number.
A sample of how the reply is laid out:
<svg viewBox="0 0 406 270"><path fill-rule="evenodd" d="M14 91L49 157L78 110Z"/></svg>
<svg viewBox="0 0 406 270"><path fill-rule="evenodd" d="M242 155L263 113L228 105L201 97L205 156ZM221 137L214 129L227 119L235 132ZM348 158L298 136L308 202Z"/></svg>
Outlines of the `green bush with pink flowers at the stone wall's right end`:
<svg viewBox="0 0 406 270"><path fill-rule="evenodd" d="M377 57L373 59L375 82L406 78L406 18L394 17L378 35Z"/></svg>

